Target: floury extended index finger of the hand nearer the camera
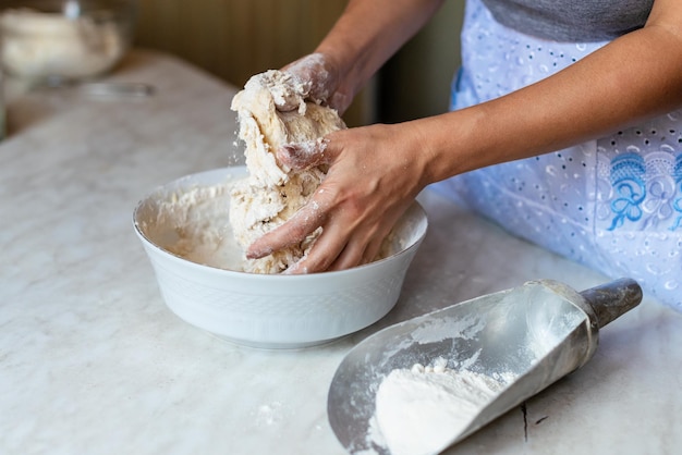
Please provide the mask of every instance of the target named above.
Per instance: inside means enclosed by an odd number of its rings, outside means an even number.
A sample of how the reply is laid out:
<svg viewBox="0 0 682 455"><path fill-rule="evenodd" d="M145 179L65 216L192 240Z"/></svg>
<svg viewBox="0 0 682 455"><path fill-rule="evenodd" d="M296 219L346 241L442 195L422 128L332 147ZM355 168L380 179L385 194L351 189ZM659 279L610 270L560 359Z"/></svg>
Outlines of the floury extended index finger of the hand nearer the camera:
<svg viewBox="0 0 682 455"><path fill-rule="evenodd" d="M297 245L324 222L319 202L310 200L289 221L256 239L246 250L248 259L259 259L283 248Z"/></svg>

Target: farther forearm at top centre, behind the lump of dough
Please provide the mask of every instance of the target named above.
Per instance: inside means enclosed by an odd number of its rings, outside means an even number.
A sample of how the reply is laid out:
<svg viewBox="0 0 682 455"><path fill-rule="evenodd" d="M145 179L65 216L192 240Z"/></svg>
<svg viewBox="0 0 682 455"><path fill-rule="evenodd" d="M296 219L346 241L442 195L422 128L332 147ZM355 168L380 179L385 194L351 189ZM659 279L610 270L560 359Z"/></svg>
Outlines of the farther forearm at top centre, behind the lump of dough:
<svg viewBox="0 0 682 455"><path fill-rule="evenodd" d="M355 95L434 15L443 0L351 0L317 47Z"/></svg>

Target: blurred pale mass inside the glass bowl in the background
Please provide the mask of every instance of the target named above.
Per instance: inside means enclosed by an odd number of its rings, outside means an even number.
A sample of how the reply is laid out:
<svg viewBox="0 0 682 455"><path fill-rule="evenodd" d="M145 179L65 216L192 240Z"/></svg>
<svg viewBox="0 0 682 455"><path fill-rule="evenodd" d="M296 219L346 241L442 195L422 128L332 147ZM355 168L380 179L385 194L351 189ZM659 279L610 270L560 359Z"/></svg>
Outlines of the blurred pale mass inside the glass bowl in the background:
<svg viewBox="0 0 682 455"><path fill-rule="evenodd" d="M0 28L3 66L21 77L94 76L109 70L127 47L115 22L87 16L8 10Z"/></svg>

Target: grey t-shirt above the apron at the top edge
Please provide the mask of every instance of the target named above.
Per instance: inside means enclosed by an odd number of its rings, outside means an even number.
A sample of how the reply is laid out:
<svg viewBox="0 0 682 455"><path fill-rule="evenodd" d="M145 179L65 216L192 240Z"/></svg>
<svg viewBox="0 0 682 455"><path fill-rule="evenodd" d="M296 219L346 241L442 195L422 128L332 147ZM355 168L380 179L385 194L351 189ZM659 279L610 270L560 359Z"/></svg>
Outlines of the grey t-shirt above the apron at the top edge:
<svg viewBox="0 0 682 455"><path fill-rule="evenodd" d="M654 0L483 0L497 22L557 41L590 42L642 28Z"/></svg>

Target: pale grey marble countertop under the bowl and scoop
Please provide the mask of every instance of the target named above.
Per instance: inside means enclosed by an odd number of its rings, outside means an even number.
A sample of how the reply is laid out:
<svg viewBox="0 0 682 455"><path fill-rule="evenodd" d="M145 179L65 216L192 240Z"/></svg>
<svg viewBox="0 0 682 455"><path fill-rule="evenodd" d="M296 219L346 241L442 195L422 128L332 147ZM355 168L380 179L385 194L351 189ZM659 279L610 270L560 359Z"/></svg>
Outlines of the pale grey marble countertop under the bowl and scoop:
<svg viewBox="0 0 682 455"><path fill-rule="evenodd" d="M234 164L235 93L135 51L114 81L146 99L38 89L9 103L0 143L0 453L342 455L327 391L348 351L389 324L522 284L607 278L433 194L429 232L395 308L332 344L220 341L165 306L132 226L137 201ZM682 446L682 315L645 296L595 357L447 454L668 454Z"/></svg>

